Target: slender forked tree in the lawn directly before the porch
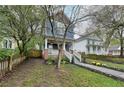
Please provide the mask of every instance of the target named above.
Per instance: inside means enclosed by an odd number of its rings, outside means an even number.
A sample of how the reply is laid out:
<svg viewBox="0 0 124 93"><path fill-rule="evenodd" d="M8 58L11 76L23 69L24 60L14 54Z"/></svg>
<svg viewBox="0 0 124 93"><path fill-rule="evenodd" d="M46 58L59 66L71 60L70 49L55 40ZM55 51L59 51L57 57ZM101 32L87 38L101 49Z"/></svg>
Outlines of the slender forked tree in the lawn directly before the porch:
<svg viewBox="0 0 124 93"><path fill-rule="evenodd" d="M56 65L57 68L60 68L60 63L62 59L62 53L63 53L64 43L66 41L67 32L70 31L69 29L75 24L89 19L90 15L83 14L81 12L81 10L83 10L83 6L43 6L43 9L45 10L47 19L51 24L51 28L52 28L51 32L55 39L56 37L54 35L55 32L53 30L54 28L53 21L55 21L55 19L58 18L64 24L63 36L62 36L62 47L59 47L58 60ZM68 14L66 14L66 12L68 12ZM56 15L57 13L58 15ZM66 19L65 19L65 15L66 15Z"/></svg>

